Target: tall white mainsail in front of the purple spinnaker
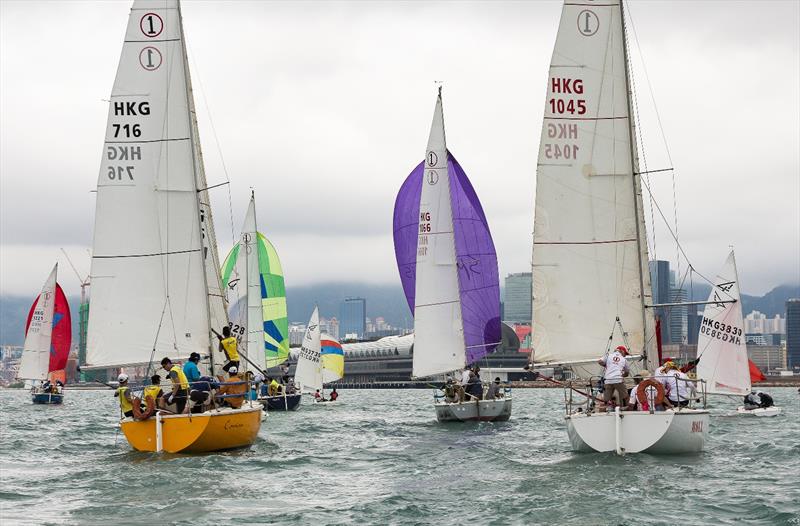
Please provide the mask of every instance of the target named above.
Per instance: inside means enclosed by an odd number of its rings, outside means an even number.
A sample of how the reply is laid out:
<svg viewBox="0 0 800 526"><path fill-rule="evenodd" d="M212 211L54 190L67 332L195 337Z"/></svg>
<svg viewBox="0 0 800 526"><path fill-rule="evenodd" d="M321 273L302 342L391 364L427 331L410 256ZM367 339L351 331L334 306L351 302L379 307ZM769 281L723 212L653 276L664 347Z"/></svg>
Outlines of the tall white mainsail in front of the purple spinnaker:
<svg viewBox="0 0 800 526"><path fill-rule="evenodd" d="M419 203L412 376L464 366L464 327L453 237L441 91L436 98Z"/></svg>

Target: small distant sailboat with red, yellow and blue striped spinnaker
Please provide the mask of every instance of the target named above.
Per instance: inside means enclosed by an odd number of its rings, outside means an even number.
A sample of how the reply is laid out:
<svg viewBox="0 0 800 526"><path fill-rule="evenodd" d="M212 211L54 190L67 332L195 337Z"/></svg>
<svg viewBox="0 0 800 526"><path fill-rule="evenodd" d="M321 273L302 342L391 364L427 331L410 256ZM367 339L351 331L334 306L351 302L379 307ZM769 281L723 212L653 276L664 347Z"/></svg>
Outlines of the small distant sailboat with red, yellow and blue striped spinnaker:
<svg viewBox="0 0 800 526"><path fill-rule="evenodd" d="M341 344L329 335L322 335L319 327L319 307L314 307L306 326L303 344L297 356L294 380L301 391L314 394L319 391L325 400L325 384L344 377L344 351Z"/></svg>

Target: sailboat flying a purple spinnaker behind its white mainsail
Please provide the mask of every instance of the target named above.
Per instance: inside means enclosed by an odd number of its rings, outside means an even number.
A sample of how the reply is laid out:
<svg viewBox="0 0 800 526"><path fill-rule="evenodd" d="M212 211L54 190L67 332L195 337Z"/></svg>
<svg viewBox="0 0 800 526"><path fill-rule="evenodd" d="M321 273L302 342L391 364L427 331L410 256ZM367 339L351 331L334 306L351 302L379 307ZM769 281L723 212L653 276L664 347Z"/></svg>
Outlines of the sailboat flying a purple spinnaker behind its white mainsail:
<svg viewBox="0 0 800 526"><path fill-rule="evenodd" d="M457 371L492 352L500 343L497 255L478 196L447 150L441 88L425 160L397 194L394 247L414 315L412 376ZM508 420L511 395L435 398L434 407L440 422Z"/></svg>

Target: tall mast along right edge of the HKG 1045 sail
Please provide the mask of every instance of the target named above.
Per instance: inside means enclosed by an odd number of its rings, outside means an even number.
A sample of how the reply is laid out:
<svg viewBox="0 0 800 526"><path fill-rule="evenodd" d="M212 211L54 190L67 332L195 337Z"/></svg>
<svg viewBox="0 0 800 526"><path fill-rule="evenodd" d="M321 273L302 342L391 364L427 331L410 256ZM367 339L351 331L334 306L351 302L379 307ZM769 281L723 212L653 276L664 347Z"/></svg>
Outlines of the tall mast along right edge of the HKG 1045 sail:
<svg viewBox="0 0 800 526"><path fill-rule="evenodd" d="M642 185L639 180L641 177L639 175L639 155L638 149L636 145L636 124L634 121L634 113L633 113L633 104L631 104L633 99L633 93L631 91L631 82L630 82L630 59L628 58L628 35L625 30L625 11L624 11L624 0L619 0L619 18L620 24L622 25L622 54L625 58L625 92L627 94L627 101L628 101L628 137L630 139L630 154L631 154L631 184L633 184L633 209L634 213L636 214L636 254L639 259L639 299L641 300L642 304L642 330L644 334L643 338L643 346L642 346L642 354L645 356L645 363L647 367L651 370L655 370L659 364L653 362L652 355L653 353L648 352L649 345L649 338L652 337L652 333L648 334L648 323L647 323L647 309L645 308L647 303L645 302L645 278L644 278L644 269L645 265L648 266L648 283L649 283L649 257L647 254L647 240L642 243L642 234L646 232L645 230L645 223L644 223L644 211L643 211L643 203L642 203ZM643 257L644 256L644 257ZM652 292L650 293L652 295ZM657 361L657 360L656 360Z"/></svg>

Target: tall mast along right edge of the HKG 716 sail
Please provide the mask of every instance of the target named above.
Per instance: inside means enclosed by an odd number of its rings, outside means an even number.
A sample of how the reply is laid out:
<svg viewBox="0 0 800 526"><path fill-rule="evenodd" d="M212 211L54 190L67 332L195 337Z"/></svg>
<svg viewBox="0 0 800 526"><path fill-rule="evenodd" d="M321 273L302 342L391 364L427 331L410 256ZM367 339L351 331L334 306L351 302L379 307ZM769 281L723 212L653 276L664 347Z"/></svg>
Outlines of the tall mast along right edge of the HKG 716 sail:
<svg viewBox="0 0 800 526"><path fill-rule="evenodd" d="M203 282L206 291L206 298L207 301L205 302L206 307L206 319L208 320L208 342L209 342L209 368L211 374L214 374L214 334L211 331L213 328L214 321L223 321L226 325L228 322L227 319L227 309L225 307L225 298L220 290L220 293L212 294L212 291L209 287L209 275L208 275L208 268L207 268L207 261L209 256L211 257L211 265L214 269L219 268L219 261L217 256L217 247L216 247L216 236L214 235L214 221L211 216L211 203L209 200L208 190L207 190L207 183L205 177L205 166L203 164L203 152L200 147L200 134L197 127L197 111L194 105L194 96L192 90L192 77L189 71L189 60L188 54L186 51L186 35L183 29L183 12L181 11L181 4L180 0L177 1L178 6L178 27L180 28L181 32L181 47L183 49L183 69L184 75L186 78L186 101L189 108L189 134L191 137L191 144L192 144L192 168L194 170L195 175L195 187L197 191L197 227L198 227L198 234L200 235L200 243L202 247L202 254L203 254ZM205 200L205 201L204 201ZM205 208L203 207L205 204ZM219 276L215 276L215 282L218 284L220 283ZM211 310L211 302L215 301L214 297L219 297L222 301L223 305L223 320L215 320L212 316ZM215 313L219 316L219 313Z"/></svg>

